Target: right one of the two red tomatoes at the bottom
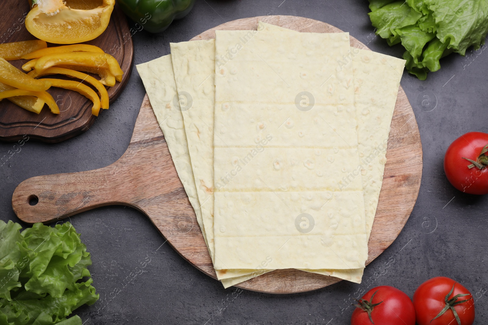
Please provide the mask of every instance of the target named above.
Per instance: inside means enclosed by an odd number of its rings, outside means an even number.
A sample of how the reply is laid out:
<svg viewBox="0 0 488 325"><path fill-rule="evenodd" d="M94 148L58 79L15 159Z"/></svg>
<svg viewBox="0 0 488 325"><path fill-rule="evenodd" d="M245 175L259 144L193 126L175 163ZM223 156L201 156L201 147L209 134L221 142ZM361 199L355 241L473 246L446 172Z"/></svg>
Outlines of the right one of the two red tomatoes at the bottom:
<svg viewBox="0 0 488 325"><path fill-rule="evenodd" d="M436 318L447 305L449 308ZM413 294L413 306L419 325L471 325L474 322L473 296L467 288L444 276L421 284Z"/></svg>

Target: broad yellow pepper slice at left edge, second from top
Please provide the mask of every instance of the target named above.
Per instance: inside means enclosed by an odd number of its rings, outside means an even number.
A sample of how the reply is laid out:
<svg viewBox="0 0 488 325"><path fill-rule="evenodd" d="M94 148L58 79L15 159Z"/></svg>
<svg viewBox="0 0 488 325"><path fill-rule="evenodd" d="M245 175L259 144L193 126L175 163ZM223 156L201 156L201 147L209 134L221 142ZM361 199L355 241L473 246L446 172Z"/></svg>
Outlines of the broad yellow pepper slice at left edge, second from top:
<svg viewBox="0 0 488 325"><path fill-rule="evenodd" d="M27 76L12 64L8 63L3 57L0 57L0 82L33 92L41 92L51 86L49 82Z"/></svg>

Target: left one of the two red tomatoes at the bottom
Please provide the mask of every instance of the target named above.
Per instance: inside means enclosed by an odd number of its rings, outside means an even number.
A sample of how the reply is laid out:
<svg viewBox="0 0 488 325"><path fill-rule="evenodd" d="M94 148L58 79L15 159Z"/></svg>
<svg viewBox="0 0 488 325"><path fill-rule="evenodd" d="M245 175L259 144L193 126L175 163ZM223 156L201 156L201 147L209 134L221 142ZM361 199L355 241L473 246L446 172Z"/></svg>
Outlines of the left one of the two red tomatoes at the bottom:
<svg viewBox="0 0 488 325"><path fill-rule="evenodd" d="M405 292L380 286L366 292L352 312L351 325L415 325L415 309Z"/></svg>

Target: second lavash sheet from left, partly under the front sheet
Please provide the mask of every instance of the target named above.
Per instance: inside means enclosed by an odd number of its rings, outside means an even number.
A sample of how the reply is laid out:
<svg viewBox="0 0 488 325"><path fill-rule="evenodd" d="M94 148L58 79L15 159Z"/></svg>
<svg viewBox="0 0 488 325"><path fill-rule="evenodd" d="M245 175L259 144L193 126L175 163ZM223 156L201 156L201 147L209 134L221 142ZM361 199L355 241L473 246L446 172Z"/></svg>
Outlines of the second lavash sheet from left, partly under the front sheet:
<svg viewBox="0 0 488 325"><path fill-rule="evenodd" d="M202 210L203 227L213 261L215 40L196 40L169 45L188 152Z"/></svg>

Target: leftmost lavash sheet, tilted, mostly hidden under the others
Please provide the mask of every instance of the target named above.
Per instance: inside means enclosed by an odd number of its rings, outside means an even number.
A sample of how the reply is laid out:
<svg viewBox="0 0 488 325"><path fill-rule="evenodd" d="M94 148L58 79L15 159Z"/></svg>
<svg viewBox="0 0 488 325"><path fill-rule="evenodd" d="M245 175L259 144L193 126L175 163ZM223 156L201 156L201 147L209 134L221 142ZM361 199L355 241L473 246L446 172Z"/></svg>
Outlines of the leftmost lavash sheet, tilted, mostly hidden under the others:
<svg viewBox="0 0 488 325"><path fill-rule="evenodd" d="M136 67L158 120L158 124L163 131L169 153L175 164L176 172L182 181L183 188L188 195L188 200L193 210L195 210L197 222L200 229L202 229L203 238L206 243L202 212L198 201L197 188L193 178L186 134L183 126L183 116L179 106L174 105L176 84L173 75L173 66L171 65L171 55L138 64Z"/></svg>

